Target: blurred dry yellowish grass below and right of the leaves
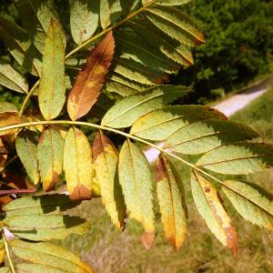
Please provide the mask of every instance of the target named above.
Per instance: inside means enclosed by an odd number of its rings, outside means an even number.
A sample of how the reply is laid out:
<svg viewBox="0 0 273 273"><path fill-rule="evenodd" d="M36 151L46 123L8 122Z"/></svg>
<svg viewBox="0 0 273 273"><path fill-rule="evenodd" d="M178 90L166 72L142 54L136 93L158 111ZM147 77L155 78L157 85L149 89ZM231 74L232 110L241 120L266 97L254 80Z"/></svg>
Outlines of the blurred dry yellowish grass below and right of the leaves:
<svg viewBox="0 0 273 273"><path fill-rule="evenodd" d="M266 141L273 143L272 105L273 90L270 90L232 116L232 120L255 127ZM67 238L65 246L80 253L98 273L272 272L273 235L243 220L226 200L225 205L231 208L230 216L238 230L238 256L234 258L231 251L223 248L210 234L198 216L189 190L188 169L178 168L186 187L189 210L187 240L180 251L176 253L167 244L158 212L156 243L147 251L139 240L141 227L130 221L126 231L120 233L111 224L100 199L85 201L74 209L73 214L90 219L92 227L84 236ZM248 178L273 193L272 172Z"/></svg>

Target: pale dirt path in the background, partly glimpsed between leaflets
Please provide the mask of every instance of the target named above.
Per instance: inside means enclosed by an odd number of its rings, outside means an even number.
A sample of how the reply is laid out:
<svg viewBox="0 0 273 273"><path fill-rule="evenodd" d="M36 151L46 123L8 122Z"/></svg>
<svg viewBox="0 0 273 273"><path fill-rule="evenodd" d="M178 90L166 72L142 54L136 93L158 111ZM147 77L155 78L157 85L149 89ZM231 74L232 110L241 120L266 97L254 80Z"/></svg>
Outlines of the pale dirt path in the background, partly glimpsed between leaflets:
<svg viewBox="0 0 273 273"><path fill-rule="evenodd" d="M264 94L272 84L273 76L269 76L267 79L260 81L257 84L241 89L234 96L230 96L224 101L217 103L217 105L212 107L221 111L226 116L232 116L238 112L238 110L248 106L248 104L255 98ZM164 144L158 143L157 145L159 147L163 147ZM153 163L157 160L159 152L156 148L147 148L144 150L144 154L147 157L147 160L150 163Z"/></svg>

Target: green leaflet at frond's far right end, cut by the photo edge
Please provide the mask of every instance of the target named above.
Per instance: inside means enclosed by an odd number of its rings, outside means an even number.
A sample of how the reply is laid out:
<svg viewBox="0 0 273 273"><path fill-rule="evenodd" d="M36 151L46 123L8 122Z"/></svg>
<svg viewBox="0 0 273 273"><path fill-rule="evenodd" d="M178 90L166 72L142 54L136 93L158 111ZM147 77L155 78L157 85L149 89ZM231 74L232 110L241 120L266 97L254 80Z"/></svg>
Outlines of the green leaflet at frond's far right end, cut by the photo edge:
<svg viewBox="0 0 273 273"><path fill-rule="evenodd" d="M222 189L238 213L259 227L273 230L273 202L256 185L235 180L222 183Z"/></svg>

